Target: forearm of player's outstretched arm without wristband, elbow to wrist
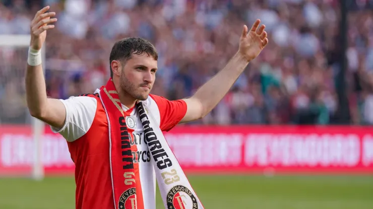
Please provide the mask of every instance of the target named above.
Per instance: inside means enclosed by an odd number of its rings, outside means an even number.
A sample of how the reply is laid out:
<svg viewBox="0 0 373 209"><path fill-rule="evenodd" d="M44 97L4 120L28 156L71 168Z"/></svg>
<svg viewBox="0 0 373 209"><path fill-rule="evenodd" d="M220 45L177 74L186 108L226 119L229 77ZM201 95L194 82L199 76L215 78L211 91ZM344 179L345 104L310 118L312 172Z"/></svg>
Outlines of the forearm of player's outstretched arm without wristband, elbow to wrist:
<svg viewBox="0 0 373 209"><path fill-rule="evenodd" d="M244 57L240 56L239 53L235 54L220 72L197 90L192 98L201 102L203 107L202 117L215 108L247 64L248 61Z"/></svg>

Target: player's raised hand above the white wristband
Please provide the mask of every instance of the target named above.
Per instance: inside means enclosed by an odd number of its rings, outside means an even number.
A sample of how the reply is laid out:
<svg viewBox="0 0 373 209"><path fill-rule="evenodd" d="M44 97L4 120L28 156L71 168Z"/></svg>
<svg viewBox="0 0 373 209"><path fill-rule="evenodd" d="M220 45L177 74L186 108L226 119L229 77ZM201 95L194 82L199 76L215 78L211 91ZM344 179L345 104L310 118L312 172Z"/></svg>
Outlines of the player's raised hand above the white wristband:
<svg viewBox="0 0 373 209"><path fill-rule="evenodd" d="M39 10L31 22L31 41L30 47L34 50L40 50L46 37L46 31L54 28L54 25L48 25L57 21L55 12L48 12L49 6Z"/></svg>

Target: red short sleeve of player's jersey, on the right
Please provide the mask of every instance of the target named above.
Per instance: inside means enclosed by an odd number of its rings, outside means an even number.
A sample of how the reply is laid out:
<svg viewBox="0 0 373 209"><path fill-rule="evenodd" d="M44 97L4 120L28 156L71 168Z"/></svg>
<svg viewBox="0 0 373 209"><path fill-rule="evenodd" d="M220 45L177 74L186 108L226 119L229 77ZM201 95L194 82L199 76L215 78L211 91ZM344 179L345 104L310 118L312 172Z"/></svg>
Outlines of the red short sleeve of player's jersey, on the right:
<svg viewBox="0 0 373 209"><path fill-rule="evenodd" d="M157 103L160 114L162 131L169 131L175 127L187 113L187 103L184 100L168 100L162 96L151 95Z"/></svg>

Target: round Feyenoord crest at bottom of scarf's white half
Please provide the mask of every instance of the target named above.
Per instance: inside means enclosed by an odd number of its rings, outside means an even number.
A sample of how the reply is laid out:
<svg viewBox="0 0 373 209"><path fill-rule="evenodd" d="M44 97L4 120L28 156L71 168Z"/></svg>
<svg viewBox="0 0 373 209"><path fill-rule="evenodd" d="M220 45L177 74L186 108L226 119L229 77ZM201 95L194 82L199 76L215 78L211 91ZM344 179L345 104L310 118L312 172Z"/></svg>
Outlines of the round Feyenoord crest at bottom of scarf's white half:
<svg viewBox="0 0 373 209"><path fill-rule="evenodd" d="M167 193L167 209L198 209L197 199L187 187L177 185Z"/></svg>

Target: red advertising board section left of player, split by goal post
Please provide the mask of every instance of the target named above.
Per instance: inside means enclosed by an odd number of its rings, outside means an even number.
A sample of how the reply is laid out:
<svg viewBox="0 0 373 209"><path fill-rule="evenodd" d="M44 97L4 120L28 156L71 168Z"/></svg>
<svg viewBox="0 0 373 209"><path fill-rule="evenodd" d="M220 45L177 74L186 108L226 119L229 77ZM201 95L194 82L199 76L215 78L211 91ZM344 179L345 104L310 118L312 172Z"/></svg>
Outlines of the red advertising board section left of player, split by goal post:
<svg viewBox="0 0 373 209"><path fill-rule="evenodd" d="M0 126L0 175L30 175L34 155L30 126ZM41 146L45 174L74 174L68 145L63 137L45 129Z"/></svg>

